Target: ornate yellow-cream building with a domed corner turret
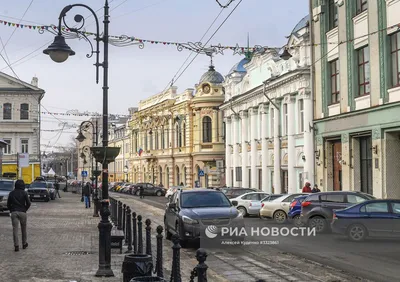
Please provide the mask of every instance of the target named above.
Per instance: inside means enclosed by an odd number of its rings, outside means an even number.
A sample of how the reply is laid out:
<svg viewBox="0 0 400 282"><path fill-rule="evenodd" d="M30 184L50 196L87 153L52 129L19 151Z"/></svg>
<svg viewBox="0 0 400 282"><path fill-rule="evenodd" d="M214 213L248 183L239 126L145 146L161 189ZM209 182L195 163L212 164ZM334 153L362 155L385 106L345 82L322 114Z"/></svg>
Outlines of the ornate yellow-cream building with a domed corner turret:
<svg viewBox="0 0 400 282"><path fill-rule="evenodd" d="M139 104L129 123L132 182L211 187L223 183L223 76L211 66L195 89L177 87Z"/></svg>

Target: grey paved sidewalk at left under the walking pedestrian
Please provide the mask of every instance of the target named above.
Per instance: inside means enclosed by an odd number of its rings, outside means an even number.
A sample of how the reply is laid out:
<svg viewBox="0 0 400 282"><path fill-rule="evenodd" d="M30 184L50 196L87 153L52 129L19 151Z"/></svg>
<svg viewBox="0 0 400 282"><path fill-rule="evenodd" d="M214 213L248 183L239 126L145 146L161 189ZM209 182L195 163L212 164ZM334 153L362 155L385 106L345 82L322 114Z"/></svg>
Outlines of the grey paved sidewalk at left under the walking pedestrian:
<svg viewBox="0 0 400 282"><path fill-rule="evenodd" d="M85 209L79 195L60 193L61 199L32 203L28 211L29 247L26 250L21 247L19 252L14 252L10 217L0 215L0 281L122 281L124 255L114 249L115 277L94 277L98 268L99 218L93 217L92 208Z"/></svg>

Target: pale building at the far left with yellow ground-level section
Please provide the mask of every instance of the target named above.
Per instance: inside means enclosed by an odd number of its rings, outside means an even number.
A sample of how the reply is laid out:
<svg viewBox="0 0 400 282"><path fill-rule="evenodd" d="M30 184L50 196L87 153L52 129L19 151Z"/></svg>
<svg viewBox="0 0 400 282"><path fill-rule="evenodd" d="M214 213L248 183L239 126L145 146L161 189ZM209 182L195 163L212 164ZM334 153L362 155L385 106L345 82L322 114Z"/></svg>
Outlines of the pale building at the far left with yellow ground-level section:
<svg viewBox="0 0 400 282"><path fill-rule="evenodd" d="M0 139L7 143L2 152L3 175L27 183L40 176L40 103L44 93L36 77L29 84L0 72ZM29 158L28 167L21 167L21 157Z"/></svg>

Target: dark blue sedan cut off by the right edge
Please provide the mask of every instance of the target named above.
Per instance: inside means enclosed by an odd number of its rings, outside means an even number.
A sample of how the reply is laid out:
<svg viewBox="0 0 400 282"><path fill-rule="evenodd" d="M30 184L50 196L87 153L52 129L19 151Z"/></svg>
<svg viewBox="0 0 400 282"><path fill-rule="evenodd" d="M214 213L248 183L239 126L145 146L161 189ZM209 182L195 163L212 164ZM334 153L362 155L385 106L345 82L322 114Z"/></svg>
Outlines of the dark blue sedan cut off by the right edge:
<svg viewBox="0 0 400 282"><path fill-rule="evenodd" d="M333 212L332 231L353 241L367 237L400 239L400 200L370 200Z"/></svg>

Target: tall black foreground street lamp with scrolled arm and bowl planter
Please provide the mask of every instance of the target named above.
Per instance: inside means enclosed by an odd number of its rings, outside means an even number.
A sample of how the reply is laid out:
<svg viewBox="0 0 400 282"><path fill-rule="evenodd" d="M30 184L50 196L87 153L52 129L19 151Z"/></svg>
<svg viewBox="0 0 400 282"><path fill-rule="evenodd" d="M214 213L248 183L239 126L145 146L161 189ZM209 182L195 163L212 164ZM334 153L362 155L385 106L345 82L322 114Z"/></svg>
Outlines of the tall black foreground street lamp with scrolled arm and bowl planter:
<svg viewBox="0 0 400 282"><path fill-rule="evenodd" d="M53 44L51 44L43 53L50 56L50 58L55 62L63 62L68 59L69 56L75 54L74 51L65 43L65 38L62 36L62 25L69 28L71 32L79 33L81 36L85 37L85 34L80 30L83 29L85 25L85 19L82 15L76 15L74 17L75 22L81 23L78 28L71 28L65 22L65 16L68 11L73 7L83 7L88 9L95 21L96 21L96 50L93 50L93 46L90 43L92 52L87 57L91 57L96 54L96 83L99 82L99 68L103 68L103 130L108 129L108 26L110 24L109 20L109 6L108 0L105 0L104 4L104 31L100 34L99 19L96 12L87 5L84 4L73 4L66 6L60 13L58 21L58 34L54 39ZM104 61L99 62L100 54L100 41L104 43ZM98 225L99 228L99 268L95 274L97 277L111 277L114 273L111 269L111 229L112 224L109 220L110 210L109 210L109 200L108 200L108 164L115 161L116 156L119 154L120 148L118 147L108 147L108 134L103 134L103 146L91 148L93 156L96 161L102 163L102 195L103 200L101 201L102 208L100 210L101 220Z"/></svg>

